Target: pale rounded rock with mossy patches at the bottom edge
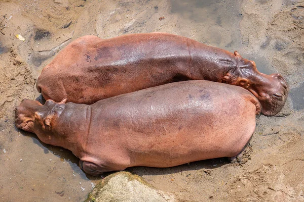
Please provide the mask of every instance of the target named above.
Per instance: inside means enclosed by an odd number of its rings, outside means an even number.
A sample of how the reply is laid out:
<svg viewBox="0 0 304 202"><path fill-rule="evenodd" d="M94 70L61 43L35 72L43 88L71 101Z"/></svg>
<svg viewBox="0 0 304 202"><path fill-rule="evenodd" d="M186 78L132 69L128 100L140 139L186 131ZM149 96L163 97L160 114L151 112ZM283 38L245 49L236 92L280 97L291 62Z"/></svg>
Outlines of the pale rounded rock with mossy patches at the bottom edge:
<svg viewBox="0 0 304 202"><path fill-rule="evenodd" d="M85 202L173 202L172 194L155 189L138 175L118 172L105 177Z"/></svg>

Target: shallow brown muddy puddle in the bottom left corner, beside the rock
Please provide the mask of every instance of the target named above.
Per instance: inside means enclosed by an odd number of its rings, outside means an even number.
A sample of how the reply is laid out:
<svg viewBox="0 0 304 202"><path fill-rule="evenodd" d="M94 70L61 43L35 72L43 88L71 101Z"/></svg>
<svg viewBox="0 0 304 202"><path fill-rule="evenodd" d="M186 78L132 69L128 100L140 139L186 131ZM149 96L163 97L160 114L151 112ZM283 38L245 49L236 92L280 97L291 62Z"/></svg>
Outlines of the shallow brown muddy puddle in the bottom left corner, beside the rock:
<svg viewBox="0 0 304 202"><path fill-rule="evenodd" d="M6 125L8 126L8 125ZM0 145L0 160L7 168L1 172L0 200L83 201L92 184L79 168L79 159L61 147L46 145L34 134L1 129L9 138ZM2 141L3 142L3 141ZM5 153L4 151L5 150ZM98 178L91 178L96 180Z"/></svg>

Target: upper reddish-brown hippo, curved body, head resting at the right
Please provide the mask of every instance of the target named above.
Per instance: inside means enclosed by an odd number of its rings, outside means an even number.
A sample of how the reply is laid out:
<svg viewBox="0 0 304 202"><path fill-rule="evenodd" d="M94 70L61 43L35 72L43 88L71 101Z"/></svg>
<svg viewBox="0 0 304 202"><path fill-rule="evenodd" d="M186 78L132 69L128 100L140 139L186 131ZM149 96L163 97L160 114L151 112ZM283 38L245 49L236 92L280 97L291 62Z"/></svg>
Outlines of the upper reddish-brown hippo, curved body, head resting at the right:
<svg viewBox="0 0 304 202"><path fill-rule="evenodd" d="M262 114L277 114L287 85L280 74L257 71L253 61L198 41L168 33L83 36L47 65L36 87L45 99L93 104L98 100L183 80L238 85L254 94Z"/></svg>

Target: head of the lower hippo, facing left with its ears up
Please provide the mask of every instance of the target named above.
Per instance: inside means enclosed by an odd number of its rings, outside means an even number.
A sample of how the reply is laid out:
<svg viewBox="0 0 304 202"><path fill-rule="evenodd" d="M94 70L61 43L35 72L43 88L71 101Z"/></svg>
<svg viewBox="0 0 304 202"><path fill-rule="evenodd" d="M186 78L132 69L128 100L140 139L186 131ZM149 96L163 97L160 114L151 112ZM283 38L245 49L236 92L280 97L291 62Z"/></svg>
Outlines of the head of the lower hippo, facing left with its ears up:
<svg viewBox="0 0 304 202"><path fill-rule="evenodd" d="M40 140L52 144L51 127L53 119L58 117L64 109L66 98L60 103L48 99L45 105L37 100L23 99L21 104L15 109L15 124L17 128L35 133ZM52 144L54 145L54 144Z"/></svg>

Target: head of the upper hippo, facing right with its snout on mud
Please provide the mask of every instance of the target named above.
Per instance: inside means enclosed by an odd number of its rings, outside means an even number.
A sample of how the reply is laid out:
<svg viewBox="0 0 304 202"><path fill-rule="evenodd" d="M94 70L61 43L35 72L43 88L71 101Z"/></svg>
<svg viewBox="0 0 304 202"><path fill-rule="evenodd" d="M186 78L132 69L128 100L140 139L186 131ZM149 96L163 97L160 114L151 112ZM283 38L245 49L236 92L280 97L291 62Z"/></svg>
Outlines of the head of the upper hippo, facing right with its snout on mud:
<svg viewBox="0 0 304 202"><path fill-rule="evenodd" d="M227 72L222 80L232 85L242 86L257 97L262 114L274 116L283 108L288 94L287 83L280 74L263 74L256 69L253 61L242 58L237 51L238 64Z"/></svg>

